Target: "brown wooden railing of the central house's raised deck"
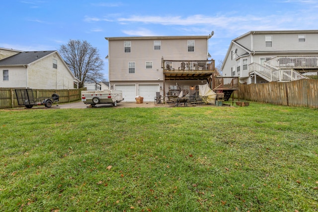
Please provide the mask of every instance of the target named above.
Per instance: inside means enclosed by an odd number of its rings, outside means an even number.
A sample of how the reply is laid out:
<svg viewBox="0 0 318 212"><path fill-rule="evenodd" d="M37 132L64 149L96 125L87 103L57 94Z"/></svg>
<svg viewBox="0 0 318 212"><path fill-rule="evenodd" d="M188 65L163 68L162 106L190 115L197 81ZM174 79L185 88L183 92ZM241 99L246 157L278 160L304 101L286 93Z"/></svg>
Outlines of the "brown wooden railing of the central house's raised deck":
<svg viewBox="0 0 318 212"><path fill-rule="evenodd" d="M215 60L172 61L162 60L163 71L215 71Z"/></svg>

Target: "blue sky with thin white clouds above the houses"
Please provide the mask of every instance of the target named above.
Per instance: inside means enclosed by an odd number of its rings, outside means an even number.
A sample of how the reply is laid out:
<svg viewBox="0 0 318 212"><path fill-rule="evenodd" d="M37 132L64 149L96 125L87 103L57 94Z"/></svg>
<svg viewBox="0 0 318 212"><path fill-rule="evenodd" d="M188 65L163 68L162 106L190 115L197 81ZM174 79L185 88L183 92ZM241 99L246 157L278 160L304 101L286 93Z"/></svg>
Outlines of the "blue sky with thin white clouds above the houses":
<svg viewBox="0 0 318 212"><path fill-rule="evenodd" d="M86 40L108 55L105 37L209 35L218 65L231 40L254 30L318 29L318 0L1 0L0 47L59 50ZM108 61L104 74L108 78Z"/></svg>

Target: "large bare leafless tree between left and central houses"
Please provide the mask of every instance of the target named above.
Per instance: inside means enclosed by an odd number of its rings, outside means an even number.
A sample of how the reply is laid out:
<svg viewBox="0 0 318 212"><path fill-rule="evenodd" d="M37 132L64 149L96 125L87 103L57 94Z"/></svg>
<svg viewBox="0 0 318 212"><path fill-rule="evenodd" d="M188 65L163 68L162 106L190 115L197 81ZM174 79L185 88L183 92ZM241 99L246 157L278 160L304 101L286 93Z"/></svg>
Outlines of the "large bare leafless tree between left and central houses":
<svg viewBox="0 0 318 212"><path fill-rule="evenodd" d="M100 59L97 48L87 41L69 40L66 45L61 45L59 53L75 77L80 80L80 88L84 82L103 80L104 62Z"/></svg>

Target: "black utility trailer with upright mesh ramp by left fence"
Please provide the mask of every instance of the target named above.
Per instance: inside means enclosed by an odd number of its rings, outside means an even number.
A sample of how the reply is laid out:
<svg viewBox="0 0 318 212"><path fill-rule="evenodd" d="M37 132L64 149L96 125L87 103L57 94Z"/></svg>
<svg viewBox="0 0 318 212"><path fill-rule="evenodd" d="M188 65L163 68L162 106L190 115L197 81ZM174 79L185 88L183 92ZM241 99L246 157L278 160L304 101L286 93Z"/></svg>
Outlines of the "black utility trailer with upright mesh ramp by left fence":
<svg viewBox="0 0 318 212"><path fill-rule="evenodd" d="M56 102L57 106L59 106L59 95L53 93L51 97L47 98L37 98L35 99L33 96L32 89L15 89L16 99L18 101L18 105L24 105L26 108L32 108L33 105L44 105L47 108L52 107L52 103Z"/></svg>

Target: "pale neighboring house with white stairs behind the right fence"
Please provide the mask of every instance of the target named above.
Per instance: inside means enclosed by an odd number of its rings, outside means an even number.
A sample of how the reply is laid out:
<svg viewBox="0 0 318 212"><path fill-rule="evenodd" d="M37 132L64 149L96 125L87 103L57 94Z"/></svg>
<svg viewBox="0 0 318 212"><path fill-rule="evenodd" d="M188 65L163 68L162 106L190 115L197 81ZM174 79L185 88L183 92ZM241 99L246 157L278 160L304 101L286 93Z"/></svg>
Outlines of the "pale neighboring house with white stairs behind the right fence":
<svg viewBox="0 0 318 212"><path fill-rule="evenodd" d="M247 84L317 75L318 30L250 31L232 40L221 69Z"/></svg>

